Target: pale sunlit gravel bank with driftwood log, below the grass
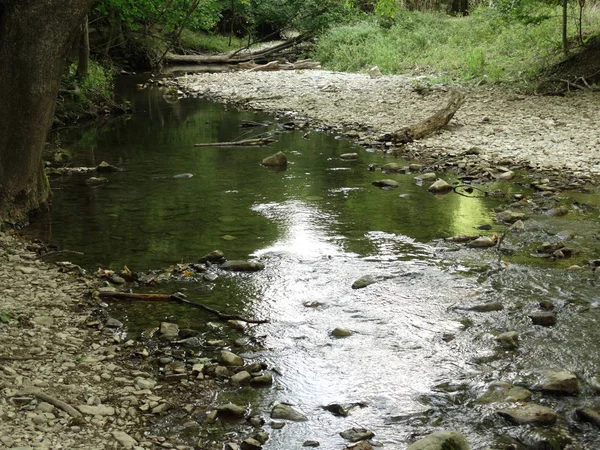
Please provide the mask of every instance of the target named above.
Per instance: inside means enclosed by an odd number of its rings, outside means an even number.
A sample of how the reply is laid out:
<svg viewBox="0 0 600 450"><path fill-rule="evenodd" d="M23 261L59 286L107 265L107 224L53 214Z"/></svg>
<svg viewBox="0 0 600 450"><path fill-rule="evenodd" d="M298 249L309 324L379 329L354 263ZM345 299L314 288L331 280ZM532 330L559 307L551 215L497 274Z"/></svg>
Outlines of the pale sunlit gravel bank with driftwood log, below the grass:
<svg viewBox="0 0 600 450"><path fill-rule="evenodd" d="M285 113L313 126L375 134L426 118L445 104L448 90L406 76L371 78L324 70L202 73L175 83L195 96ZM530 170L558 170L597 181L600 92L544 97L514 87L455 88L465 92L465 105L446 129L409 150L455 156L477 147L480 159L490 163L508 159Z"/></svg>

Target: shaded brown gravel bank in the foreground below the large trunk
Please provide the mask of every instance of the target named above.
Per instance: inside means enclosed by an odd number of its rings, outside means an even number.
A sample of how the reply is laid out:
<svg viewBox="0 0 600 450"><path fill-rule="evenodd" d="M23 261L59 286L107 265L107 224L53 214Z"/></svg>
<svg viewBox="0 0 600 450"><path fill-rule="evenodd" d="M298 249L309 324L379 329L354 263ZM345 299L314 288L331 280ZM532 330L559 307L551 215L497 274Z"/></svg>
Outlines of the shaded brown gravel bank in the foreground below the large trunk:
<svg viewBox="0 0 600 450"><path fill-rule="evenodd" d="M35 246L0 233L0 448L163 445L147 430L165 390L131 363L136 344L93 316L91 281Z"/></svg>

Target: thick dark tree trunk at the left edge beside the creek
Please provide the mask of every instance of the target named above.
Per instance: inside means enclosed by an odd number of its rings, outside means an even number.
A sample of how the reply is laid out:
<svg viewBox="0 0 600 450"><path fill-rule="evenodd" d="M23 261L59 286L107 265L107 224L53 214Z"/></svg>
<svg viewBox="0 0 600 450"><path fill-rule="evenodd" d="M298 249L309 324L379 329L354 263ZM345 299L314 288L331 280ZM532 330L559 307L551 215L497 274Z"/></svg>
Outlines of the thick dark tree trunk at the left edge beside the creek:
<svg viewBox="0 0 600 450"><path fill-rule="evenodd" d="M0 222L47 207L42 150L69 44L94 0L0 0Z"/></svg>

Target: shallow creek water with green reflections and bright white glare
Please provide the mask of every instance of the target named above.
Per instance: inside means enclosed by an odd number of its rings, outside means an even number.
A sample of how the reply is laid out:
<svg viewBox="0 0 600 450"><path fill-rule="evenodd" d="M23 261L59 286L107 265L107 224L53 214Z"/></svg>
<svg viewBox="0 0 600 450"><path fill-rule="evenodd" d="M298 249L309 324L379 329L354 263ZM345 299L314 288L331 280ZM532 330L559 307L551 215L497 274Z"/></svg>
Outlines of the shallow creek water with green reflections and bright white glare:
<svg viewBox="0 0 600 450"><path fill-rule="evenodd" d="M367 170L373 162L397 161L393 156L316 131L304 137L307 130L277 134L278 142L267 148L194 148L194 143L274 132L274 124L287 119L228 111L198 99L169 100L159 90L129 90L130 83L123 89L132 117L60 136L77 164L106 160L126 170L107 175L109 183L97 188L85 186L84 175L54 179L54 209L37 224L37 233L83 252L71 259L91 271L124 265L134 271L166 269L214 249L228 259L264 263L257 273L218 272L214 282L181 281L155 289L182 291L221 311L271 321L245 334L206 313L168 303L114 303L110 313L133 337L170 321L207 339L245 339L247 346L230 345L232 351L266 361L276 369L275 384L232 388L218 400L248 404L267 419L271 405L285 401L309 418L281 430L271 430L267 420L265 449L301 448L306 440L319 441L324 449L343 448L338 433L351 427L372 430L390 449L404 449L439 429L465 433L474 449L513 448L502 443L505 436L539 442L539 433L559 429L568 430L581 448L600 448L591 425L573 416L576 407L596 404L585 383L600 372L595 274L527 258L516 263L505 258L508 267L497 270L505 265L493 250L448 251L436 241L477 234L474 227L484 223L493 228L486 233L502 232L493 208L506 199L433 196L415 183L414 174ZM240 127L243 121L269 125L246 129ZM288 155L287 170L260 165L279 150ZM357 152L358 160L340 160L348 152ZM182 173L193 176L174 178ZM381 178L397 180L400 188L371 185ZM508 196L521 192L513 184L486 186L497 188ZM597 203L594 196L581 197L570 201ZM585 251L569 264L583 264L596 251L595 219L597 212L560 220L542 215L531 228L549 239L563 228L576 229L572 245ZM352 289L364 275L378 282ZM558 324L534 327L527 314L546 299L557 307ZM456 309L492 300L504 310ZM332 337L336 327L353 334ZM509 330L520 333L520 348L498 350L495 334ZM455 338L446 342L444 335ZM509 426L495 415L496 405L475 403L493 381L528 385L544 369L574 372L583 385L576 397L534 393L537 403L560 413L553 428ZM343 418L322 408L329 403L362 407ZM199 439L180 424L169 426L185 442Z"/></svg>

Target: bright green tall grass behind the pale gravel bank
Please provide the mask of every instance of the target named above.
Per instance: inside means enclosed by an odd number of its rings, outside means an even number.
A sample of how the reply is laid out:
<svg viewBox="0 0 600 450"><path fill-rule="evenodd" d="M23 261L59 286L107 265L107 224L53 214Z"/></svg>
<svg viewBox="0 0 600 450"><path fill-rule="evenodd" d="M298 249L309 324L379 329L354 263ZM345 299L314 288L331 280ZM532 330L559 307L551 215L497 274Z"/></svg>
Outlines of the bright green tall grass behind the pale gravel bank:
<svg viewBox="0 0 600 450"><path fill-rule="evenodd" d="M428 74L437 80L524 80L562 57L560 10L546 13L552 17L524 24L507 22L488 8L460 18L403 11L388 28L366 21L330 30L315 58L332 70L378 66L387 74ZM569 27L575 35L574 19ZM597 8L586 13L586 28L600 29Z"/></svg>

